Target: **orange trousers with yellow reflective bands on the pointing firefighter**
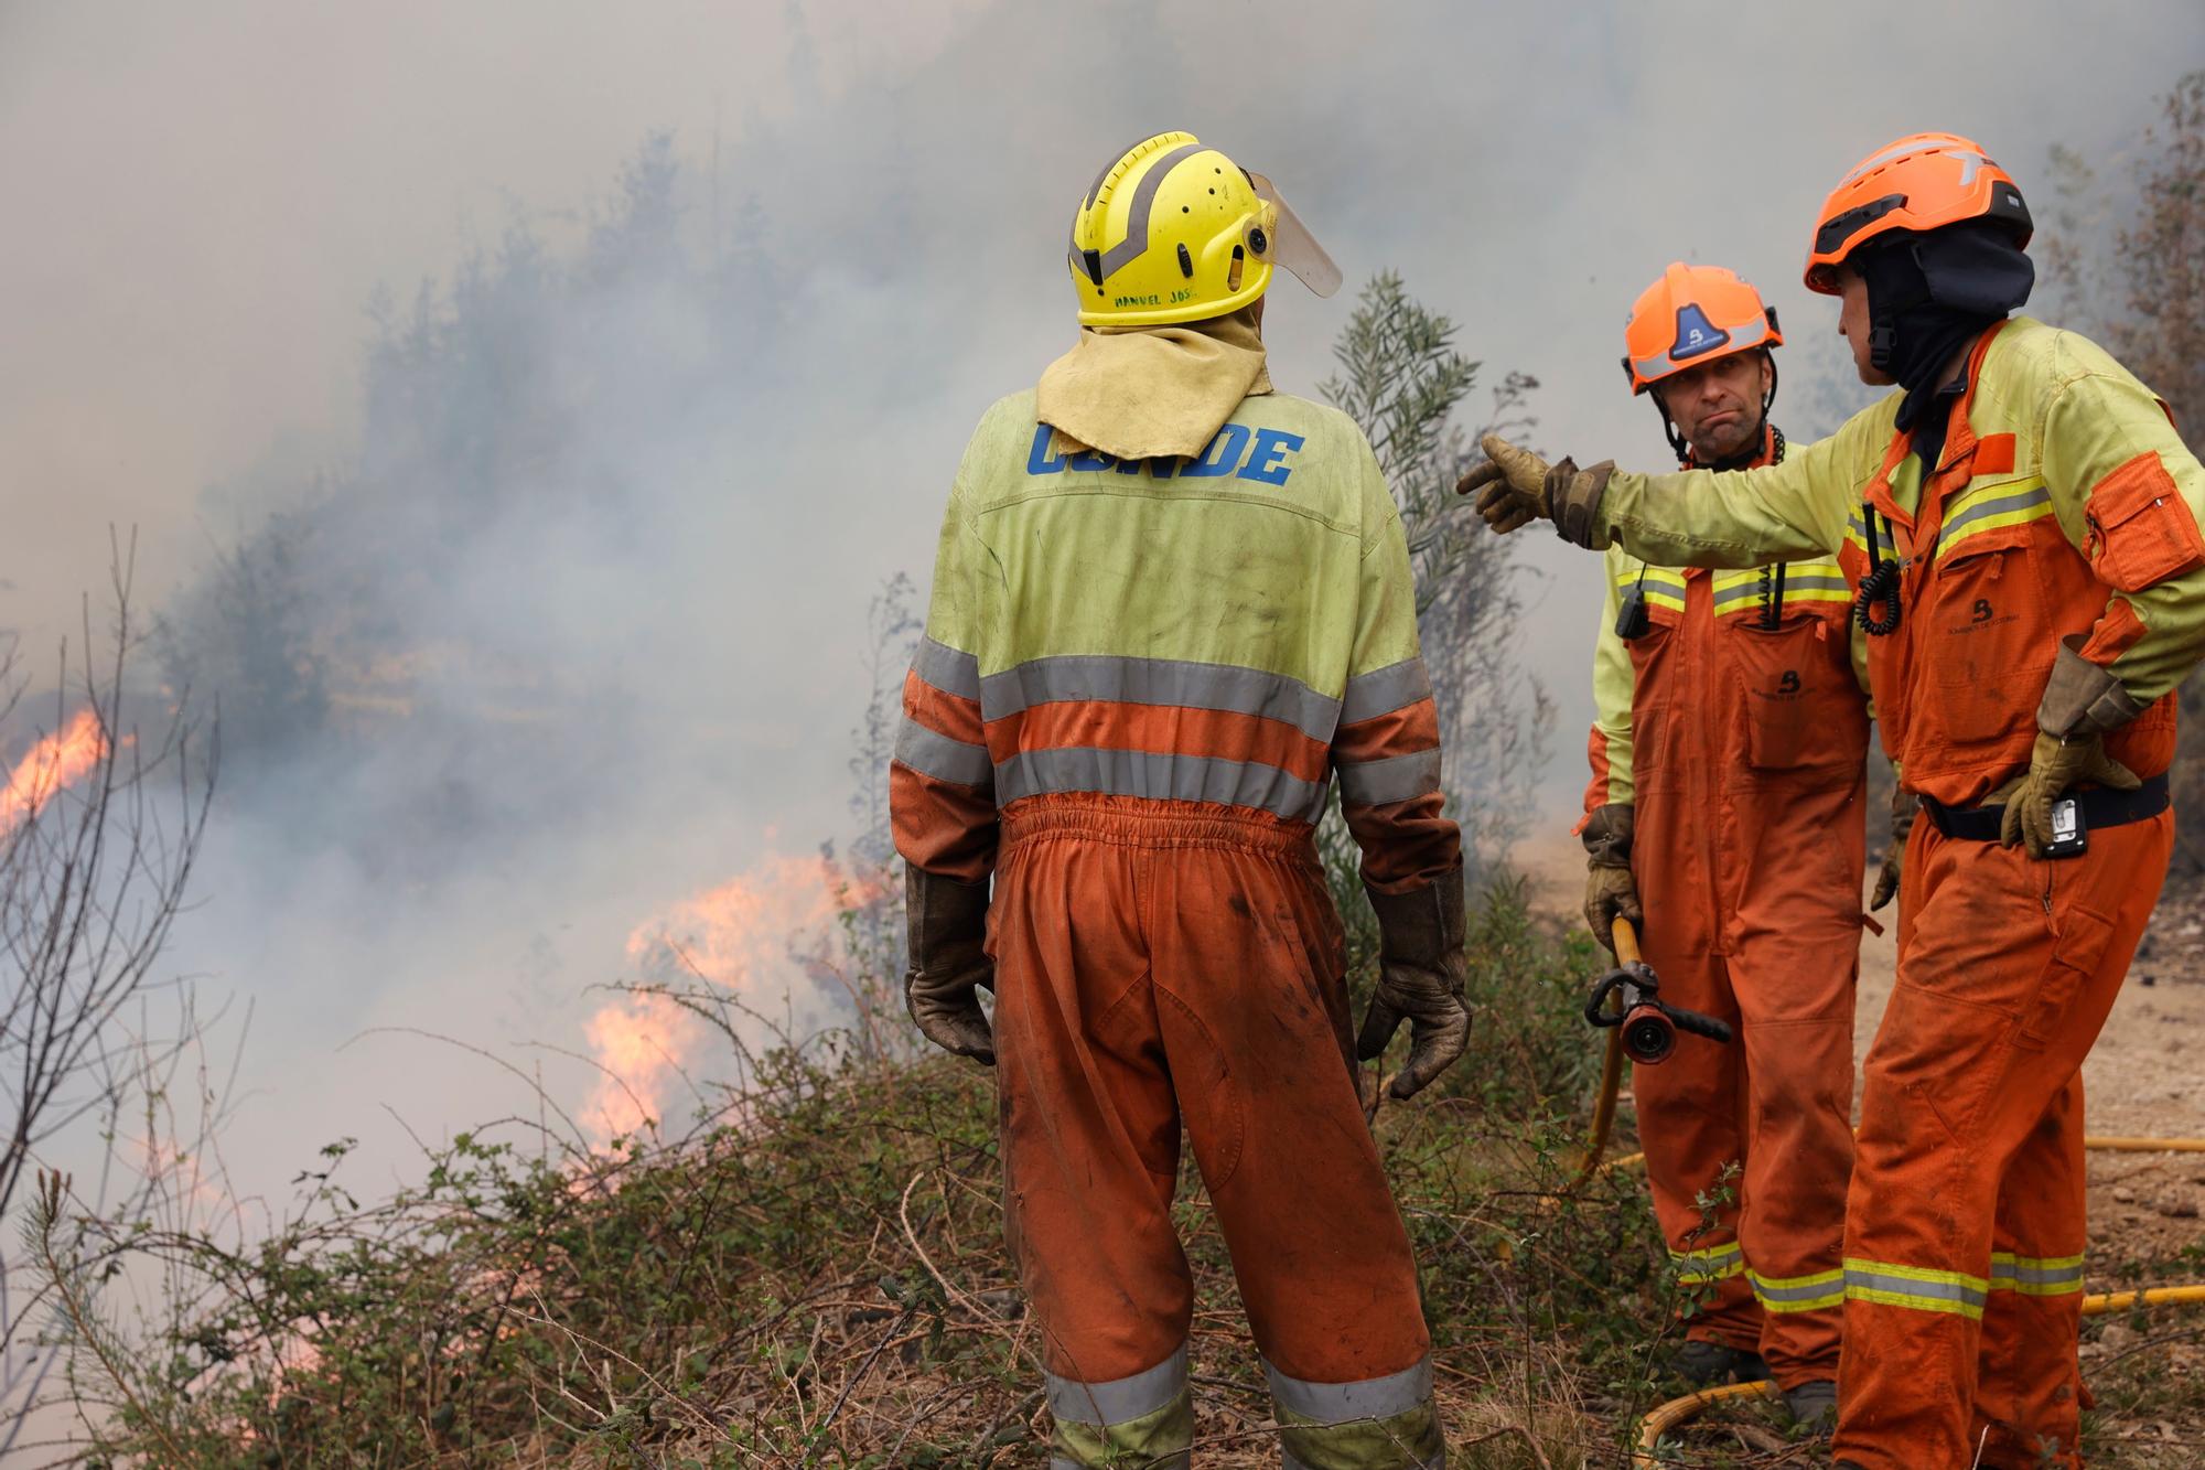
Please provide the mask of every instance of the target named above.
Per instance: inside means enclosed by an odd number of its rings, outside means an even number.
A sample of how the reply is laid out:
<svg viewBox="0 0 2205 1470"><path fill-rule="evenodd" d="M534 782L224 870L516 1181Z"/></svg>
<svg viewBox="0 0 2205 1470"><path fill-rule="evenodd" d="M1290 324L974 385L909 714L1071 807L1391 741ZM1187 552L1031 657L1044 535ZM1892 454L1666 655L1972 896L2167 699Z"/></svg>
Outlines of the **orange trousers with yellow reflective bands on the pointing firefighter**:
<svg viewBox="0 0 2205 1470"><path fill-rule="evenodd" d="M2062 861L1914 823L1846 1203L1839 1459L2082 1463L2082 1062L2172 845L2172 812Z"/></svg>

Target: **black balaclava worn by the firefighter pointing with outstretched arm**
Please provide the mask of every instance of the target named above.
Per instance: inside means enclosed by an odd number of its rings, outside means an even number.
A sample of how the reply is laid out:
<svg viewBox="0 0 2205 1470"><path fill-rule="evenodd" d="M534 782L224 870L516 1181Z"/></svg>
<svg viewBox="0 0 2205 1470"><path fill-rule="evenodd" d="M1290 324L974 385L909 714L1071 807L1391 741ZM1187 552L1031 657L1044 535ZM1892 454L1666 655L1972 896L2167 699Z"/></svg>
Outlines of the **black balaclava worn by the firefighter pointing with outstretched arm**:
<svg viewBox="0 0 2205 1470"><path fill-rule="evenodd" d="M1914 452L1934 470L1951 397L1967 391L1960 377L1938 393L1938 373L2029 300L2037 269L2011 227L1987 219L1890 234L1859 252L1854 267L1868 283L1870 362L1905 388L1899 428L1914 428Z"/></svg>

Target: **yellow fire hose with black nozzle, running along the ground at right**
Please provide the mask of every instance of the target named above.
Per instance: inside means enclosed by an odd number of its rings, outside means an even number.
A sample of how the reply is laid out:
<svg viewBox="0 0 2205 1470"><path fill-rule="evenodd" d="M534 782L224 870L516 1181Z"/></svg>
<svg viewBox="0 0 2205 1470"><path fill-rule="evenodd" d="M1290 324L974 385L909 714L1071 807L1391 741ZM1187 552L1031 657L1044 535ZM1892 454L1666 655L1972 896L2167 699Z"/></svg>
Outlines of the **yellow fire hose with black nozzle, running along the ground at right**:
<svg viewBox="0 0 2205 1470"><path fill-rule="evenodd" d="M1682 1011L1660 1000L1660 982L1638 956L1638 934L1629 920L1618 918L1612 929L1616 942L1616 969L1601 976L1585 1000L1585 1020L1607 1031L1607 1053L1601 1062L1601 1093L1592 1106L1592 1135L1585 1139L1585 1157L1570 1194L1592 1183L1596 1176L1643 1165L1645 1154L1625 1154L1601 1161L1607 1152L1607 1135L1616 1121L1616 1093L1623 1086L1623 1057L1629 1055L1641 1066L1658 1066L1676 1051L1676 1031L1704 1035L1713 1042L1729 1042L1731 1029L1715 1018ZM2130 1154L2205 1154L2205 1139L2139 1139L2139 1137L2084 1137L2088 1150ZM2134 1307L2192 1307L2205 1304L2205 1282L2194 1287L2150 1287L2143 1291L2097 1291L2082 1298L2082 1315L2099 1318ZM1768 1399L1777 1397L1771 1380L1751 1384L1722 1384L1687 1393L1680 1399L1660 1404L1638 1421L1638 1448L1634 1466L1660 1466L1654 1457L1660 1437L1693 1419L1709 1404L1724 1399Z"/></svg>

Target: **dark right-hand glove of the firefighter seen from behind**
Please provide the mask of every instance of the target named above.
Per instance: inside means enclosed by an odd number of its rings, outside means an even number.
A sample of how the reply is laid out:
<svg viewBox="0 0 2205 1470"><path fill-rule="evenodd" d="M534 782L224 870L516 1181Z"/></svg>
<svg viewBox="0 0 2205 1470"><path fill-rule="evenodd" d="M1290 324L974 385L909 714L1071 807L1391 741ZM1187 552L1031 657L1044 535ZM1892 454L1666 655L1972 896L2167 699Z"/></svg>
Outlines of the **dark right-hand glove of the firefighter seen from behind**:
<svg viewBox="0 0 2205 1470"><path fill-rule="evenodd" d="M1363 1013L1356 1057L1380 1055L1400 1022L1409 1022L1409 1059L1387 1088L1398 1101L1453 1066L1471 1040L1471 1009L1462 1004L1469 971L1462 874L1409 894L1367 892L1378 914L1378 993Z"/></svg>

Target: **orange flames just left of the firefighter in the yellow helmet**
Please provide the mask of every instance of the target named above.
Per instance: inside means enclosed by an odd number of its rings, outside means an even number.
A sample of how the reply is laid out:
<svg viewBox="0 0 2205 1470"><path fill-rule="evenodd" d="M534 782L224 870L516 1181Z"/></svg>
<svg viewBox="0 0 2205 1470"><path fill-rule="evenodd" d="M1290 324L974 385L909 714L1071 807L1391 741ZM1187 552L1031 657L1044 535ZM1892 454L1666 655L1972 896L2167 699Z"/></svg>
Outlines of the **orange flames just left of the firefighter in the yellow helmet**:
<svg viewBox="0 0 2205 1470"><path fill-rule="evenodd" d="M628 934L639 978L673 989L725 991L728 1020L745 1046L803 1040L836 1004L836 918L880 896L827 856L767 856L728 883L675 903ZM655 993L600 1006L584 1024L604 1077L584 1119L600 1139L633 1135L666 1117L684 1077L712 1040L695 1011Z"/></svg>

